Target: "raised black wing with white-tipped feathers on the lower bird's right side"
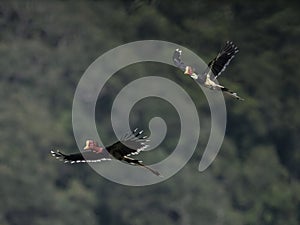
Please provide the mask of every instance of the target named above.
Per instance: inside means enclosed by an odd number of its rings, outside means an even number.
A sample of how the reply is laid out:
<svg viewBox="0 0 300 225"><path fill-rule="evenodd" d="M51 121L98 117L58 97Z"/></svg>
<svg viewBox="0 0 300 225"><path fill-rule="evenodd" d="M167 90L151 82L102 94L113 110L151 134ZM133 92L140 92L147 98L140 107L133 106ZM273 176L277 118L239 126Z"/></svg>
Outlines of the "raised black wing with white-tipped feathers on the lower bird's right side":
<svg viewBox="0 0 300 225"><path fill-rule="evenodd" d="M142 133L142 130L135 129L132 133L125 134L120 141L106 147L106 150L119 160L124 156L137 155L149 147L146 144L149 140Z"/></svg>

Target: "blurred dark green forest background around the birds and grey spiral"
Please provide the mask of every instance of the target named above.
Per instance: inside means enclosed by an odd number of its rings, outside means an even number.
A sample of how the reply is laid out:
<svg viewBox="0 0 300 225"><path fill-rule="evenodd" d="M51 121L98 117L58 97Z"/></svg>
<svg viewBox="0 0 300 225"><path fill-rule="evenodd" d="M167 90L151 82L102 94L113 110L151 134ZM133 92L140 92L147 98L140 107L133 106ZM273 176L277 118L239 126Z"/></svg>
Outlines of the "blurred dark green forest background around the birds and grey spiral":
<svg viewBox="0 0 300 225"><path fill-rule="evenodd" d="M299 17L298 5L283 0L1 1L0 224L298 225ZM212 166L197 171L205 140L182 171L148 187L118 185L87 165L52 159L54 148L77 151L71 109L85 69L105 51L142 39L175 42L205 60L226 40L240 47L220 81L246 101L226 98L227 134ZM205 125L210 114L201 90L176 71L125 69L107 84L97 111L109 118L120 88L161 72L186 88ZM178 126L172 107L155 105L141 102L133 121L147 128L161 116ZM97 121L114 141L109 121ZM171 135L164 145L174 141ZM155 152L151 162L168 154Z"/></svg>

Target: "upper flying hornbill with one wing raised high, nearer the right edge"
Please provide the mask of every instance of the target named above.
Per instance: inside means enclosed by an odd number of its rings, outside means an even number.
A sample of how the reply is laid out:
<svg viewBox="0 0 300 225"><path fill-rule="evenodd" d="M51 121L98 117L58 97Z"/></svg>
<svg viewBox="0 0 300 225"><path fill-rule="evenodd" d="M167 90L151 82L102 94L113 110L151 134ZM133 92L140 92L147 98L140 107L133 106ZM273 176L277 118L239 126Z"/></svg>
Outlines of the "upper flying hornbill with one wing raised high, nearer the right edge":
<svg viewBox="0 0 300 225"><path fill-rule="evenodd" d="M175 50L173 54L173 62L175 66L184 72L184 74L189 75L204 87L211 90L221 90L222 92L227 93L238 100L244 100L243 98L239 97L236 92L229 90L217 82L217 78L226 69L230 61L238 52L238 47L235 46L232 41L227 41L218 55L208 63L208 67L202 73L196 72L194 68L186 65L182 61L182 51L180 49Z"/></svg>

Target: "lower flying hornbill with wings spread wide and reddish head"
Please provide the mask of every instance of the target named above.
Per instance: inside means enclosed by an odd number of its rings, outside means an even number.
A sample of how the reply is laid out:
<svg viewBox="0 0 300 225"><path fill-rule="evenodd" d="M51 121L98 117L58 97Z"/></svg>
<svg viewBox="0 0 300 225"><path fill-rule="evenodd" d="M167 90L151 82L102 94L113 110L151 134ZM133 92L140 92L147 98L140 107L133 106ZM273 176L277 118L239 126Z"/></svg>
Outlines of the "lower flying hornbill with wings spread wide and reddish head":
<svg viewBox="0 0 300 225"><path fill-rule="evenodd" d="M158 171L143 164L141 160L130 157L139 154L149 147L149 145L146 145L146 142L149 140L147 136L142 137L142 133L143 131L135 129L132 133L125 134L121 140L108 147L100 147L96 141L87 140L86 146L84 147L85 151L82 153L64 154L57 150L56 152L51 151L51 154L55 158L71 164L86 162L96 163L115 158L131 165L144 167L155 175L161 176Z"/></svg>

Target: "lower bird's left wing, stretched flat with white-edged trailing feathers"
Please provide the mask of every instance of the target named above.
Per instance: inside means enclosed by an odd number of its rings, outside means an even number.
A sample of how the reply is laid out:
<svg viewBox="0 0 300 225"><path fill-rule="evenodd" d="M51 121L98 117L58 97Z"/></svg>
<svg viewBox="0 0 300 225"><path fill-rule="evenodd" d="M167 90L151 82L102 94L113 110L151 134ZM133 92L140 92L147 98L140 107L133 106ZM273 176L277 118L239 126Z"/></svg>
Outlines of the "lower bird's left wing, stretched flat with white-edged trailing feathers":
<svg viewBox="0 0 300 225"><path fill-rule="evenodd" d="M64 154L57 150L51 151L53 157L64 161L65 163L87 163L87 162L101 162L105 160L111 160L109 154L96 153L94 151L88 150L82 153Z"/></svg>

